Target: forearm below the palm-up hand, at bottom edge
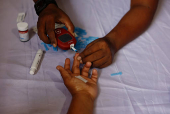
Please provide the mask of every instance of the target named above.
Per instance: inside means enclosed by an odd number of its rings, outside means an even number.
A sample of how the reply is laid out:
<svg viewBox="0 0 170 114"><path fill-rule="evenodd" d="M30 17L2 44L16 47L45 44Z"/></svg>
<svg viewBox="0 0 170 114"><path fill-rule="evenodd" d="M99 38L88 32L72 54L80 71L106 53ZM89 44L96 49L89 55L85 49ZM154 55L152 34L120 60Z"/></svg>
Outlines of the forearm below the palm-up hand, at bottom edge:
<svg viewBox="0 0 170 114"><path fill-rule="evenodd" d="M93 114L94 100L88 95L75 95L67 114Z"/></svg>

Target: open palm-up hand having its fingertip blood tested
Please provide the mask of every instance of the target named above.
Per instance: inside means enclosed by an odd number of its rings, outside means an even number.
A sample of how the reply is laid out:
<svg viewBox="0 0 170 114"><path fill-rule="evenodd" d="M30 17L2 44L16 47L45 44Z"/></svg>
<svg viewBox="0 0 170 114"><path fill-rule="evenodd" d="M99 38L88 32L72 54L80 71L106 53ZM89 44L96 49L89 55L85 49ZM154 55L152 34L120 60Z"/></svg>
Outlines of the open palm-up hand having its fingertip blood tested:
<svg viewBox="0 0 170 114"><path fill-rule="evenodd" d="M93 69L91 78L88 78L88 72L91 67L91 63L87 62L80 72L79 65L80 62L77 60L79 56L76 53L74 57L74 63L72 66L72 70L70 70L70 59L65 60L64 68L62 66L57 66L57 69L60 71L61 76L64 80L64 84L72 94L72 96L77 95L88 95L93 100L97 97L98 89L97 89L97 79L98 73L96 69ZM76 78L75 76L81 76L88 82L83 82L82 80Z"/></svg>

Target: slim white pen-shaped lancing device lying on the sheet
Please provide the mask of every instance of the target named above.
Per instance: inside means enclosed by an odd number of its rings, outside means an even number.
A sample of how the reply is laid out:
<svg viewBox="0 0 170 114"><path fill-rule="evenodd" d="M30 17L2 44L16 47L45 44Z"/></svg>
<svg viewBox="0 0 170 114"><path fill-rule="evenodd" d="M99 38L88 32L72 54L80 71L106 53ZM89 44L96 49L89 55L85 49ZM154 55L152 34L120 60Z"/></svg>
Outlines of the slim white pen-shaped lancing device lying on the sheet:
<svg viewBox="0 0 170 114"><path fill-rule="evenodd" d="M31 74L31 75L34 75L35 72L37 71L38 66L39 66L39 64L40 64L40 61L41 61L41 58L42 58L42 55L43 55L43 50L39 49L39 50L37 51L37 54L36 54L35 58L34 58L34 61L33 61L33 63L32 63L32 66L31 66L31 68L30 68L30 74Z"/></svg>

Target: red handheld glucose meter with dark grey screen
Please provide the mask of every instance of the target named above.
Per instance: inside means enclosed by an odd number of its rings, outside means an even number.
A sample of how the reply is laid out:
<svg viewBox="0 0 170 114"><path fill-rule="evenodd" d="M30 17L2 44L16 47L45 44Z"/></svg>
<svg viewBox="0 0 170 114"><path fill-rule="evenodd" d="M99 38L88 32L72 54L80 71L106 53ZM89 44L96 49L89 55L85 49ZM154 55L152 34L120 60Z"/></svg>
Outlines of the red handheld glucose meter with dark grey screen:
<svg viewBox="0 0 170 114"><path fill-rule="evenodd" d="M76 45L77 43L76 38L63 28L57 28L55 30L55 36L57 39L58 47L62 50L69 50L71 44Z"/></svg>

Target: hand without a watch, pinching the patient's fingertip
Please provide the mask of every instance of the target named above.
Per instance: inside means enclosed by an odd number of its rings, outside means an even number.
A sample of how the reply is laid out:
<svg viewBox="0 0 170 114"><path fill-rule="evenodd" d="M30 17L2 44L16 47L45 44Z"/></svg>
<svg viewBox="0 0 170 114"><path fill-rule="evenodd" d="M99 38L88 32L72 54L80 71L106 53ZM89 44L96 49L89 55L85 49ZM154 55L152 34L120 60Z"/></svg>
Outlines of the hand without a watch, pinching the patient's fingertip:
<svg viewBox="0 0 170 114"><path fill-rule="evenodd" d="M92 67L104 68L113 62L114 53L115 49L113 44L104 37L88 44L77 59L80 60L80 63L89 61L92 63Z"/></svg>

